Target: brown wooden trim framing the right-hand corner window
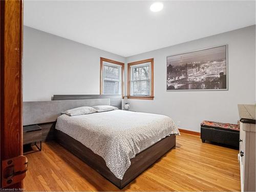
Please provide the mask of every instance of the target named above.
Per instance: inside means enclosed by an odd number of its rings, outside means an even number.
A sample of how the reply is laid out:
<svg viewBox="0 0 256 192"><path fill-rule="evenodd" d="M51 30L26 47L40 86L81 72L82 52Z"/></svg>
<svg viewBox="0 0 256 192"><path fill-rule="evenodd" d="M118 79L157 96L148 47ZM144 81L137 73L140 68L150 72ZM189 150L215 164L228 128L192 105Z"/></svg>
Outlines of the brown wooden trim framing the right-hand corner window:
<svg viewBox="0 0 256 192"><path fill-rule="evenodd" d="M142 64L145 62L151 62L151 95L150 96L132 96L131 90L130 90L130 88L131 88L131 66ZM144 99L144 100L153 100L154 99L154 58L127 63L127 98L128 99Z"/></svg>

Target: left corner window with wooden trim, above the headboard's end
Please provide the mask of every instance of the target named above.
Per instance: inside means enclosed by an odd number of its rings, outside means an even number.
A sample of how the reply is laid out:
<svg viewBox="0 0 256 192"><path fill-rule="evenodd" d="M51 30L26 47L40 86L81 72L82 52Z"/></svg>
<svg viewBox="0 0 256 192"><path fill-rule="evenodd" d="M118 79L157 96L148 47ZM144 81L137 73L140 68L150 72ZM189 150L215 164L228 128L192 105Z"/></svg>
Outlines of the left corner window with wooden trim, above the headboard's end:
<svg viewBox="0 0 256 192"><path fill-rule="evenodd" d="M124 63L100 57L100 94L123 96Z"/></svg>

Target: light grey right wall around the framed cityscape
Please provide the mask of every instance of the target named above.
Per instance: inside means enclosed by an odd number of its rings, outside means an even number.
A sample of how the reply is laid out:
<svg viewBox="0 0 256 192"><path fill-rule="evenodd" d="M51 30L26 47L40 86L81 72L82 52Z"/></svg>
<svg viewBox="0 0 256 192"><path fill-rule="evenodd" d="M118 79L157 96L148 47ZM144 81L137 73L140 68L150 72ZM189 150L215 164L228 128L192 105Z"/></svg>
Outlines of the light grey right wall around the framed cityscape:
<svg viewBox="0 0 256 192"><path fill-rule="evenodd" d="M200 30L200 29L199 29ZM166 56L228 45L228 91L166 91ZM202 120L237 123L238 103L255 103L255 26L126 58L154 58L154 100L130 99L131 110L164 114L200 132Z"/></svg>

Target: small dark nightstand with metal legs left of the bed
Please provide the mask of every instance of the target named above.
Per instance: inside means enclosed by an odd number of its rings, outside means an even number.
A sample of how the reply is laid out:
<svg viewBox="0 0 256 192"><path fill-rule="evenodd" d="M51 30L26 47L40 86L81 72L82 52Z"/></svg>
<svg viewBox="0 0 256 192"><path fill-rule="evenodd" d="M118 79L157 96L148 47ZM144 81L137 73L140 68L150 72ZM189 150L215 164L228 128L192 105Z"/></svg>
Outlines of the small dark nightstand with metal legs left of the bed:
<svg viewBox="0 0 256 192"><path fill-rule="evenodd" d="M40 143L40 146L37 145L38 142ZM26 145L26 144L30 144L30 146L35 145L38 151L41 151L42 129L39 125L35 124L35 125L23 126L23 145ZM37 152L37 151L33 151L33 152Z"/></svg>

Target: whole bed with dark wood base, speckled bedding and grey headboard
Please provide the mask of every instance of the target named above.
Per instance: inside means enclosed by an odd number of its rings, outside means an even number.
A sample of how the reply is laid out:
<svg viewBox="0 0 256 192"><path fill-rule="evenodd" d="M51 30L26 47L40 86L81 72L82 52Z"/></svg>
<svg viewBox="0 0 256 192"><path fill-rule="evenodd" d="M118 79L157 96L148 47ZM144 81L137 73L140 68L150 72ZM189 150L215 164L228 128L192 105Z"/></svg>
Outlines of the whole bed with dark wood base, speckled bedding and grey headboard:
<svg viewBox="0 0 256 192"><path fill-rule="evenodd" d="M118 102L116 98L106 98L55 96L53 101L25 102L25 122L38 124L54 120L54 139L121 189L173 148L179 131L172 119L156 114L114 110L60 115L60 111L79 105L99 103L121 108L121 97ZM68 100L61 101L65 99ZM31 118L39 114L40 119Z"/></svg>

